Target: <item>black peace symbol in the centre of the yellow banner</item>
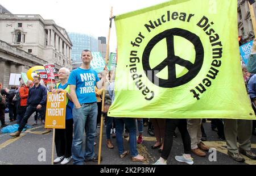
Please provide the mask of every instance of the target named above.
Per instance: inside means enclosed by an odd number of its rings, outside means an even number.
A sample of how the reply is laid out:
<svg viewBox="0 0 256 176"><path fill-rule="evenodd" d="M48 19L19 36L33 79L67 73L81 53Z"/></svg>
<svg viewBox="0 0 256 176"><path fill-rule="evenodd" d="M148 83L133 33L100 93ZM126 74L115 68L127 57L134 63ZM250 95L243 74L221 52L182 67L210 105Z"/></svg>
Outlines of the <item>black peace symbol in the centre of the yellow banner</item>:
<svg viewBox="0 0 256 176"><path fill-rule="evenodd" d="M194 63L188 60L184 60L179 56L175 56L174 36L184 37L194 45L195 51L196 51L196 58ZM154 48L154 46L164 38L166 38L166 41L167 41L167 58L164 59L164 61L161 62L158 66L155 66L155 68L151 68L150 62L149 62L150 53ZM184 52L187 52L185 46L182 46L182 47L184 47ZM150 79L150 81L155 85L159 87L164 87L164 88L181 86L191 81L200 72L203 66L203 61L204 61L204 47L203 47L203 44L201 43L199 36L197 36L195 33L192 33L180 28L173 28L170 30L166 30L164 32L159 33L155 37L153 37L148 42L142 56L143 70L146 73L147 78ZM187 68L188 73L177 78L175 64L178 64L180 66L183 66L184 68ZM168 79L161 79L159 77L156 77L156 74L161 70L163 70L164 68L166 68L166 66L168 66Z"/></svg>

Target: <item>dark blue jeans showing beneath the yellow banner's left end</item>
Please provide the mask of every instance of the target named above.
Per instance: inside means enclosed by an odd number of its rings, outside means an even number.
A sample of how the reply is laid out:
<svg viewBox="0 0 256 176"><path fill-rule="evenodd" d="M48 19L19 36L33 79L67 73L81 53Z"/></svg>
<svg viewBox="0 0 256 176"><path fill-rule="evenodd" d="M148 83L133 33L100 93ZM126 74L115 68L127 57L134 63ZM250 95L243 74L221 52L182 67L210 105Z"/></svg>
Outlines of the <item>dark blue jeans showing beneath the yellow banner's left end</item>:
<svg viewBox="0 0 256 176"><path fill-rule="evenodd" d="M137 151L137 140L136 140L136 123L133 118L115 118L115 133L117 136L117 146L119 154L123 154L125 150L123 149L123 125L129 130L129 144L131 157L135 157L138 155Z"/></svg>

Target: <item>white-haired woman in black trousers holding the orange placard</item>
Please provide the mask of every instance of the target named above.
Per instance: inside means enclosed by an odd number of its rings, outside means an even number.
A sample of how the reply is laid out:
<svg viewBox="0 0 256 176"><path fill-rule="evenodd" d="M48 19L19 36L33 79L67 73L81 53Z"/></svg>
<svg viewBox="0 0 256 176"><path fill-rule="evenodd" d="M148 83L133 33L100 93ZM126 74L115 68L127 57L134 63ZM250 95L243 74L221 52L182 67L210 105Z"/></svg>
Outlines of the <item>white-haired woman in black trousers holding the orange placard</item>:
<svg viewBox="0 0 256 176"><path fill-rule="evenodd" d="M73 141L73 118L72 109L73 102L70 96L70 89L68 85L69 69L61 68L59 70L59 80L57 83L56 90L53 89L52 93L60 93L61 91L67 92L67 103L66 103L66 121L65 129L56 129L55 146L57 158L53 161L55 164L61 162L61 165L68 164L72 160L71 148Z"/></svg>

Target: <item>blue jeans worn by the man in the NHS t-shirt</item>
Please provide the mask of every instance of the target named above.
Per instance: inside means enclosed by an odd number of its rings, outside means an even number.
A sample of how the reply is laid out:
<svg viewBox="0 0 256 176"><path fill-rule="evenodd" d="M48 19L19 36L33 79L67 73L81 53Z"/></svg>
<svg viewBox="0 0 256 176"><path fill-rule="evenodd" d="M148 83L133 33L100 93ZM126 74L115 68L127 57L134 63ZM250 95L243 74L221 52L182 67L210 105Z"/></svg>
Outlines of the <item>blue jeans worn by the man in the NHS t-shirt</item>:
<svg viewBox="0 0 256 176"><path fill-rule="evenodd" d="M74 136L72 143L73 164L82 165L86 158L92 159L94 153L94 139L96 135L98 107L97 103L82 104L81 108L73 108ZM85 152L82 151L82 139L86 132Z"/></svg>

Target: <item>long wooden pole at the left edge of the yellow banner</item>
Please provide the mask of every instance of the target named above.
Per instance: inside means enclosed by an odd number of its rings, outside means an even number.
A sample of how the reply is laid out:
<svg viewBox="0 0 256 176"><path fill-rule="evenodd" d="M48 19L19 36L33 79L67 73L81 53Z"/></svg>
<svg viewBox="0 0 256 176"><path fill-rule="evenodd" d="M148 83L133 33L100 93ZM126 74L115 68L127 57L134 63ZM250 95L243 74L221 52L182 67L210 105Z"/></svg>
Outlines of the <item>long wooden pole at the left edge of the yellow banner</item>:
<svg viewBox="0 0 256 176"><path fill-rule="evenodd" d="M108 60L109 60L109 39L110 39L110 30L112 26L112 19L113 19L113 7L111 7L110 11L110 25L109 25L109 33L108 33L108 40L107 40L107 46L106 46L106 65L108 65ZM105 65L105 69L106 69ZM104 78L105 80L105 78ZM102 128L103 128L103 111L104 111L104 102L105 102L105 81L103 85L103 92L102 92L102 106L101 106L101 128L100 128L100 141L99 141L99 146L98 146L98 165L101 164L101 145L102 145Z"/></svg>

